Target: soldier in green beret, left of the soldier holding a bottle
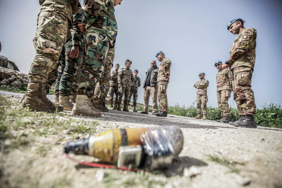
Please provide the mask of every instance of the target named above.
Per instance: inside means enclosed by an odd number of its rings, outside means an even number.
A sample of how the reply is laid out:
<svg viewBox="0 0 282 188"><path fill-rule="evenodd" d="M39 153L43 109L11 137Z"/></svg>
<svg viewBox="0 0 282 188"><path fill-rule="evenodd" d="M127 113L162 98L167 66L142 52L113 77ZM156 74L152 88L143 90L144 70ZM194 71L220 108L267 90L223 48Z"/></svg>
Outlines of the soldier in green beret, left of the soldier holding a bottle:
<svg viewBox="0 0 282 188"><path fill-rule="evenodd" d="M115 70L111 72L111 81L110 81L110 108L111 110L117 110L118 109L118 69L119 64L115 64ZM113 108L113 98L115 94L115 107Z"/></svg>

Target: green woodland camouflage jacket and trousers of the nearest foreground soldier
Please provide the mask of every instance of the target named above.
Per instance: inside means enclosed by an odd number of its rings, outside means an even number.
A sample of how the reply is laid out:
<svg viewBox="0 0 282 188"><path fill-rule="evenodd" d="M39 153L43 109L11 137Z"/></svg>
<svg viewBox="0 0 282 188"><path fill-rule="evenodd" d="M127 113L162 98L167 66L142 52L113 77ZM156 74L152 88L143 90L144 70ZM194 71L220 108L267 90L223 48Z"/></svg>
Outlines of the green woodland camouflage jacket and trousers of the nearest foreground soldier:
<svg viewBox="0 0 282 188"><path fill-rule="evenodd" d="M102 77L109 46L115 46L118 29L113 0L89 0L87 17L85 65L78 79L77 94L90 96Z"/></svg>

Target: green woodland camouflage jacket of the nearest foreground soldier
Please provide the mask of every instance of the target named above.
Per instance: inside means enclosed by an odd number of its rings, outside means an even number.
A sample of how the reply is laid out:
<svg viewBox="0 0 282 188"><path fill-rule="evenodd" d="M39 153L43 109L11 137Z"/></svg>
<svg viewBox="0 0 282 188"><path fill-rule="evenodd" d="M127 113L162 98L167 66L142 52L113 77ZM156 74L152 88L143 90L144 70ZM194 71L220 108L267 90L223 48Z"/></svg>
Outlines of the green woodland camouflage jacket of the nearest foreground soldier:
<svg viewBox="0 0 282 188"><path fill-rule="evenodd" d="M102 34L109 39L110 44L115 46L115 37L118 26L115 19L115 7L113 0L89 0L88 22L86 29Z"/></svg>

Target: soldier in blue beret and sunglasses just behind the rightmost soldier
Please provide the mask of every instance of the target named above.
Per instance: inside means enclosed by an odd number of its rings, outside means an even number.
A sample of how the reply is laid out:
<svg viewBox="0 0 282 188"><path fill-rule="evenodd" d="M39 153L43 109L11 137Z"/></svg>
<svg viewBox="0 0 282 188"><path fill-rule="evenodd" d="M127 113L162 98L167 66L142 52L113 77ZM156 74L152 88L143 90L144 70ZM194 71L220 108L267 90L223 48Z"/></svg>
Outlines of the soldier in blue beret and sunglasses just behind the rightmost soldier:
<svg viewBox="0 0 282 188"><path fill-rule="evenodd" d="M228 105L228 99L230 97L231 86L229 79L229 71L222 68L222 62L216 61L214 64L218 73L216 75L216 98L218 102L218 108L221 112L221 119L216 120L217 122L229 123L230 109Z"/></svg>

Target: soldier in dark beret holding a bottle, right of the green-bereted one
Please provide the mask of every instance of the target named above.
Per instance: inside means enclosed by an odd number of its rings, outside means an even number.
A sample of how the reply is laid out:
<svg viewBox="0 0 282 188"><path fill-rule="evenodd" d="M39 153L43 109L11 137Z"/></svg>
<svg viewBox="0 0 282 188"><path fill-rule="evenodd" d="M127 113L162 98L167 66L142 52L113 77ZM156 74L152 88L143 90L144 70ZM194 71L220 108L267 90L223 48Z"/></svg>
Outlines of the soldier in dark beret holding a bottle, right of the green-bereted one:
<svg viewBox="0 0 282 188"><path fill-rule="evenodd" d="M118 94L118 111L121 111L121 99L124 94L124 99L123 99L123 109L122 111L129 112L127 109L127 102L128 102L128 97L130 95L130 87L132 86L134 82L134 76L132 73L132 70L130 70L131 66L131 61L126 60L125 61L125 67L122 68L119 73L118 73L118 88L121 88L121 91Z"/></svg>

